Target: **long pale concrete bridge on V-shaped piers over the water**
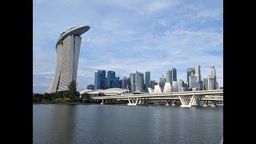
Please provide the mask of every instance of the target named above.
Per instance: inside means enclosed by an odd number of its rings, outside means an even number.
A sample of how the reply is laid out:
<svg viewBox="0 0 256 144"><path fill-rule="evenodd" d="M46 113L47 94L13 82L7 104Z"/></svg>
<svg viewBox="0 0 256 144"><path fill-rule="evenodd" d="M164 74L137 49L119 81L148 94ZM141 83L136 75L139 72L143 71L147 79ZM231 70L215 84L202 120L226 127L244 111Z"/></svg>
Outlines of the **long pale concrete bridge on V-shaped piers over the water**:
<svg viewBox="0 0 256 144"><path fill-rule="evenodd" d="M199 91L184 91L171 92L162 94L121 94L121 95L106 95L91 97L90 100L102 100L102 104L108 101L126 101L128 106L137 106L146 103L147 100L166 100L182 103L181 107L198 106L200 101L223 102L223 90L199 90ZM105 101L105 102L104 102Z"/></svg>

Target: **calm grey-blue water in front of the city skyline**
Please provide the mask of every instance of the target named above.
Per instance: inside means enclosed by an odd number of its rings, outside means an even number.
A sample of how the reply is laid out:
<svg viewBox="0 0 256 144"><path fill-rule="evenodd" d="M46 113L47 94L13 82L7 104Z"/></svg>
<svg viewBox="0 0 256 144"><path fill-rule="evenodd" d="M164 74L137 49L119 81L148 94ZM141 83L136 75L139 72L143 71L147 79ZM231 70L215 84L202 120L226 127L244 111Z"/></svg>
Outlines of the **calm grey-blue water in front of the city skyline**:
<svg viewBox="0 0 256 144"><path fill-rule="evenodd" d="M34 143L218 143L223 108L34 105Z"/></svg>

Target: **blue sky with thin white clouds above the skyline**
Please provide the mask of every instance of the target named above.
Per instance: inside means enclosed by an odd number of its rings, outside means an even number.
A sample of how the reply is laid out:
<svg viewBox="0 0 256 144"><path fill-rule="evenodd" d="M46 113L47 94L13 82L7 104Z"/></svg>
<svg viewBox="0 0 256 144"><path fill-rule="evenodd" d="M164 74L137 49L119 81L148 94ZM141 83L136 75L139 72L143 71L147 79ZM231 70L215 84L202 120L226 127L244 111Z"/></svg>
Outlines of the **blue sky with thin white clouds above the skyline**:
<svg viewBox="0 0 256 144"><path fill-rule="evenodd" d="M201 66L202 78L215 66L223 86L222 0L34 0L33 91L45 93L54 77L55 44L74 26L82 34L77 90L94 84L94 72L114 70L123 78L150 71L158 81L175 67Z"/></svg>

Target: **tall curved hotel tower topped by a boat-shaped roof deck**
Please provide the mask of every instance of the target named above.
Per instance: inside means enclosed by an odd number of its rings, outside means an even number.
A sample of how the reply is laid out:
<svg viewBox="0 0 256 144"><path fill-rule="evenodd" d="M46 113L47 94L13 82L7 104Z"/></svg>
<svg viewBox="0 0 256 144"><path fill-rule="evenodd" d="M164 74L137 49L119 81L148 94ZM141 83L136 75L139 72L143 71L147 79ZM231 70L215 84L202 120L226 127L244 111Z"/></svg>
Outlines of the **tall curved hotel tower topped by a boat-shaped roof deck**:
<svg viewBox="0 0 256 144"><path fill-rule="evenodd" d="M76 81L81 35L89 29L90 26L72 27L58 38L55 46L57 53L55 73L47 93L69 90L70 82Z"/></svg>

